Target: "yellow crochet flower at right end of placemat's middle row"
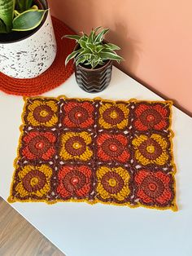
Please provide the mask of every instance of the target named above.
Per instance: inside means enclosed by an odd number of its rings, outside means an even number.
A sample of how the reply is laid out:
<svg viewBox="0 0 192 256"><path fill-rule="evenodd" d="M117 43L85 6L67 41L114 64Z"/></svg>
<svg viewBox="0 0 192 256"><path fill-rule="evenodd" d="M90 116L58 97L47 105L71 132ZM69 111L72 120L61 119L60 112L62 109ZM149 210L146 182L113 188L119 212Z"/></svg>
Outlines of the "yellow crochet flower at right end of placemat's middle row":
<svg viewBox="0 0 192 256"><path fill-rule="evenodd" d="M168 161L168 143L161 135L151 137L140 135L132 141L135 149L135 158L143 166L156 164L163 166Z"/></svg>

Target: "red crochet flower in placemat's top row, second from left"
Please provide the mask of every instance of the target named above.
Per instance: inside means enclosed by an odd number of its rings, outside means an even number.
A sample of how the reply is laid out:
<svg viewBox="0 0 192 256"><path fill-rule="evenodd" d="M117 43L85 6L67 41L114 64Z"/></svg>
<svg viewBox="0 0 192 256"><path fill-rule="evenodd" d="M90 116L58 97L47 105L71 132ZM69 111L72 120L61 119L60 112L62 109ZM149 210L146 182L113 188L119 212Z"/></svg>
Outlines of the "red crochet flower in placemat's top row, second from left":
<svg viewBox="0 0 192 256"><path fill-rule="evenodd" d="M69 128L88 128L94 124L94 107L87 101L69 101L63 106L63 124Z"/></svg>

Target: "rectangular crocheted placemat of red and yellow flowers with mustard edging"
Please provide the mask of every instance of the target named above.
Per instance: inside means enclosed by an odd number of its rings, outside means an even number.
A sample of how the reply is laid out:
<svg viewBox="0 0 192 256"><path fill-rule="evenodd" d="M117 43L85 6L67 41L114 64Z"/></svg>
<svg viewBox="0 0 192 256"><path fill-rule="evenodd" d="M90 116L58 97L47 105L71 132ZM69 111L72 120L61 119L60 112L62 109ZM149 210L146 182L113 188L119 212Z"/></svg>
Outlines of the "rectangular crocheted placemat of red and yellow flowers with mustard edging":
<svg viewBox="0 0 192 256"><path fill-rule="evenodd" d="M27 98L9 202L177 210L171 101Z"/></svg>

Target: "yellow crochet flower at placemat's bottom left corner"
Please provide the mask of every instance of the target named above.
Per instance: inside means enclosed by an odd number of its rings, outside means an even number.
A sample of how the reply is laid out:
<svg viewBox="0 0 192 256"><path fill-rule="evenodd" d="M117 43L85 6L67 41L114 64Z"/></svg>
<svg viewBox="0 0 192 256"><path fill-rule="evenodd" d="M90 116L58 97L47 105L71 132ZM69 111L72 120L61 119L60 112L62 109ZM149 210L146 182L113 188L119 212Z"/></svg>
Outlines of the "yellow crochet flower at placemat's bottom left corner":
<svg viewBox="0 0 192 256"><path fill-rule="evenodd" d="M50 191L50 177L52 170L49 166L24 166L18 176L20 183L15 191L20 197L45 196Z"/></svg>

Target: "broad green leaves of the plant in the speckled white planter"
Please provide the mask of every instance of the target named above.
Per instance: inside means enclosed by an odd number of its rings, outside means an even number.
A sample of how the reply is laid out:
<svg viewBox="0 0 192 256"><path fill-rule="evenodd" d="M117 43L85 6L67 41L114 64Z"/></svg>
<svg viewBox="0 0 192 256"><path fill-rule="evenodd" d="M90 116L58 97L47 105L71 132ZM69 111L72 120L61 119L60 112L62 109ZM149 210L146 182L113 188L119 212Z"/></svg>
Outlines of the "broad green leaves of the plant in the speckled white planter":
<svg viewBox="0 0 192 256"><path fill-rule="evenodd" d="M33 0L0 0L0 33L37 28L47 10L38 10Z"/></svg>

